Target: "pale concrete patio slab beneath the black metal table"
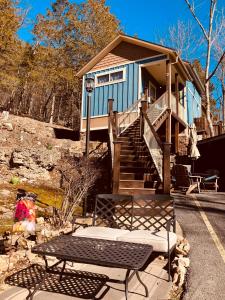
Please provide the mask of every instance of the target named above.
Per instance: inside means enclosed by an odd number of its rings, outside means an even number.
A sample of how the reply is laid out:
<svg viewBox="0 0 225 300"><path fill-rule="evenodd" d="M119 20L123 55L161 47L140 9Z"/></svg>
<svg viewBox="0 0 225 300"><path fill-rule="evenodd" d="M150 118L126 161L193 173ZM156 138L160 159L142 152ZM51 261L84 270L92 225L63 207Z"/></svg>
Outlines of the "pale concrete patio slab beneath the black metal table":
<svg viewBox="0 0 225 300"><path fill-rule="evenodd" d="M140 277L148 286L149 297L144 296L144 288L134 276L129 282L129 300L166 300L169 299L168 293L171 288L171 282L167 281L167 271L163 269L166 265L166 260L159 260L158 258L151 262L144 272L140 273ZM100 274L107 274L110 278L124 279L125 270L104 268L87 264L74 264L73 268L82 271L95 272ZM104 296L104 300L125 300L124 285L109 283L110 290ZM18 287L10 287L0 293L0 300L23 300L28 295L26 289ZM80 298L65 296L62 294L55 294L49 292L38 291L34 300L78 300Z"/></svg>

